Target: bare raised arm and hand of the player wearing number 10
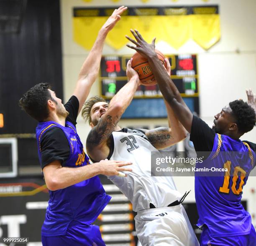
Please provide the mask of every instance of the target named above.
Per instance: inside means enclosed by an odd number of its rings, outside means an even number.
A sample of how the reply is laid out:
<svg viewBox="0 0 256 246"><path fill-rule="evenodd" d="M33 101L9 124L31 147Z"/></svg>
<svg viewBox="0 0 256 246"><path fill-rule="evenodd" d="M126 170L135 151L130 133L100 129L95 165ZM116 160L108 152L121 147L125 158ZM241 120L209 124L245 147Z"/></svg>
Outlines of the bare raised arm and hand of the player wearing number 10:
<svg viewBox="0 0 256 246"><path fill-rule="evenodd" d="M128 36L126 36L126 38L136 46L127 46L136 50L138 53L148 59L148 63L154 73L154 77L157 80L164 99L172 107L176 117L182 123L184 128L186 128L186 130L190 133L193 115L187 105L184 103L184 100L179 94L179 90L174 85L173 81L166 73L165 68L162 66L162 63L157 57L155 52L155 39L151 44L148 44L137 30L135 30L135 32L131 30L131 33L136 40L133 40Z"/></svg>

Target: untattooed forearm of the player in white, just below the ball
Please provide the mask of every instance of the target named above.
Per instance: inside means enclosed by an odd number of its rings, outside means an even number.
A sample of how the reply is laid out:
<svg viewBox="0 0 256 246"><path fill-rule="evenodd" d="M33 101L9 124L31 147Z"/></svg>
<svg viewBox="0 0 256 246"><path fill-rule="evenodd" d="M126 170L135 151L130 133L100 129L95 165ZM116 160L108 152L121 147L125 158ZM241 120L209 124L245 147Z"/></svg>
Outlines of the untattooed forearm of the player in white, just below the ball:
<svg viewBox="0 0 256 246"><path fill-rule="evenodd" d="M130 105L133 100L133 96L140 85L140 81L137 76L132 77L125 86L123 86L118 93L111 99L109 107L119 104L121 108L121 115Z"/></svg>

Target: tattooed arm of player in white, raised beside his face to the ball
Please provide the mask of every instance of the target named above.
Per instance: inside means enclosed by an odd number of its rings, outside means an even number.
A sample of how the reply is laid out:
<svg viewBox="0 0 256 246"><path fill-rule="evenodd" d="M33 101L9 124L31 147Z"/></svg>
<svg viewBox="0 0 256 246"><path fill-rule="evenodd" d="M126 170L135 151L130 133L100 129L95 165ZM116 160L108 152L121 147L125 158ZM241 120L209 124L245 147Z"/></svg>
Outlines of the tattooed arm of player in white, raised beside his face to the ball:
<svg viewBox="0 0 256 246"><path fill-rule="evenodd" d="M87 137L87 152L95 161L107 158L109 154L108 138L115 130L123 112L130 105L138 85L140 85L138 73L131 68L131 60L127 63L126 74L128 77L127 84L110 100L108 110Z"/></svg>

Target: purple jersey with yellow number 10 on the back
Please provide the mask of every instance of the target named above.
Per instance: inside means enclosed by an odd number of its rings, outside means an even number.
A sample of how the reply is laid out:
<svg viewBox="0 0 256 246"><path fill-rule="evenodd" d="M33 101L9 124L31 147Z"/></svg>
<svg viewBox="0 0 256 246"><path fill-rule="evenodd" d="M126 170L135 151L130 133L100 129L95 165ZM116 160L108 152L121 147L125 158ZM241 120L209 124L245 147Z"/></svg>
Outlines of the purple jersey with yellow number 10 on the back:
<svg viewBox="0 0 256 246"><path fill-rule="evenodd" d="M251 216L241 205L241 198L255 160L256 154L247 143L216 133L212 153L196 164L196 168L225 169L218 175L195 173L197 225L207 225L212 236L250 233Z"/></svg>

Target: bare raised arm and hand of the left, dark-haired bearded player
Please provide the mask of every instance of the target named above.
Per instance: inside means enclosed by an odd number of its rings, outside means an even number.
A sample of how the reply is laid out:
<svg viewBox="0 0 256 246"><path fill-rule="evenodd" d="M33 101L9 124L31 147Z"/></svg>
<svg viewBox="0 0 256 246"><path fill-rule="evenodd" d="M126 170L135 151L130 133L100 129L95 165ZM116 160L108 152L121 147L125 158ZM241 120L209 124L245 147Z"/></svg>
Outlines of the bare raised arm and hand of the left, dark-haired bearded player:
<svg viewBox="0 0 256 246"><path fill-rule="evenodd" d="M97 39L90 50L89 55L84 61L82 68L80 69L77 85L73 95L79 100L79 110L82 109L84 101L86 100L92 84L95 82L100 68L100 59L102 55L102 48L104 45L105 38L109 31L115 26L120 20L120 15L127 9L127 7L121 6L115 9L112 15L108 18L105 24L100 29ZM90 34L89 34L90 35Z"/></svg>

